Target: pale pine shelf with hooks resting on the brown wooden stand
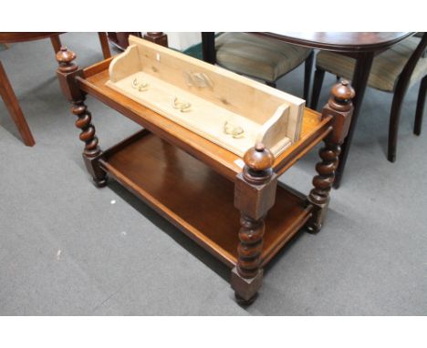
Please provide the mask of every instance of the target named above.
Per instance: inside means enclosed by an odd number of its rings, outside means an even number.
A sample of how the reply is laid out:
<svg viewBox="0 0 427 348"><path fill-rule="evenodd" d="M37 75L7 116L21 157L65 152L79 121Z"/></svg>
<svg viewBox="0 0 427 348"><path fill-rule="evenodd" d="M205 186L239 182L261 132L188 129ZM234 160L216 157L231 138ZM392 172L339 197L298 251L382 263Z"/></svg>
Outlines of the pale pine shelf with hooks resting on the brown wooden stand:
<svg viewBox="0 0 427 348"><path fill-rule="evenodd" d="M126 97L240 157L255 142L278 156L299 138L304 100L140 38L130 43L110 64L107 83ZM197 74L206 77L204 87L189 86ZM135 78L148 90L132 87ZM191 103L191 111L174 108L175 97ZM225 121L244 128L245 138L224 134Z"/></svg>

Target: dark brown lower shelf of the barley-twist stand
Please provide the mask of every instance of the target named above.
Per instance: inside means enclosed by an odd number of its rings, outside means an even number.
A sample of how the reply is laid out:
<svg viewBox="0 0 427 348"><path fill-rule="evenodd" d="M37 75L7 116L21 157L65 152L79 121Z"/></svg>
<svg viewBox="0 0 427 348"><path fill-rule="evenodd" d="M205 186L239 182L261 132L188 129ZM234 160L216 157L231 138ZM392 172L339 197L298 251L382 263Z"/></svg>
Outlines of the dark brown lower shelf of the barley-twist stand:
<svg viewBox="0 0 427 348"><path fill-rule="evenodd" d="M232 181L144 130L105 151L100 166L219 260L236 265L240 224ZM310 210L305 197L277 187L262 266L306 223Z"/></svg>

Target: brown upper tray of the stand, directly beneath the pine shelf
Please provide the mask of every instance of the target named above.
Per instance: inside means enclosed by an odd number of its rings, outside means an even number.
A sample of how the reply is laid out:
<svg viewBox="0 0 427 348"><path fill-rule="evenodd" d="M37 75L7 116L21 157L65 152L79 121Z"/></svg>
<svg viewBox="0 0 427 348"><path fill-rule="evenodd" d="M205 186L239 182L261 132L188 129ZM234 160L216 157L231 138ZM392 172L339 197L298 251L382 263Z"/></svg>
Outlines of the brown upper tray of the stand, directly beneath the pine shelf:
<svg viewBox="0 0 427 348"><path fill-rule="evenodd" d="M184 149L194 158L203 161L228 179L235 179L235 175L242 171L243 161L233 152L183 128L169 118L161 117L141 103L107 87L110 62L111 58L85 68L83 71L85 78L77 77L78 86L143 128L149 129L152 133ZM273 169L279 175L285 172L303 153L307 153L307 148L316 146L330 130L330 117L322 119L317 111L305 108L300 139L276 157Z"/></svg>

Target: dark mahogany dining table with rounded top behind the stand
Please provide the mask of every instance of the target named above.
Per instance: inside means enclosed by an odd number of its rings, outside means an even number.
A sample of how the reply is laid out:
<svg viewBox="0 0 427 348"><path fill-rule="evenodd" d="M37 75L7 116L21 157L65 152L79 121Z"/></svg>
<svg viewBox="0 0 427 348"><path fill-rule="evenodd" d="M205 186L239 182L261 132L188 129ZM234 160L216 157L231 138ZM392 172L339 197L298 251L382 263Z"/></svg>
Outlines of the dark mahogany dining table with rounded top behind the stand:
<svg viewBox="0 0 427 348"><path fill-rule="evenodd" d="M354 129L359 117L359 111L365 89L370 76L370 67L374 56L379 55L391 46L396 45L408 36L412 36L413 32L275 32L275 33L251 33L256 36L265 36L284 41L297 46L305 46L310 48L318 48L337 52L345 56L351 56L356 59L356 67L353 73L351 85L356 92L356 97L353 99L354 111L351 118L349 135L342 144L341 154L339 156L338 169L334 187L338 189L346 162L349 156L349 148L353 138ZM215 49L214 49L214 33L202 33L203 40L203 60L214 64Z"/></svg>

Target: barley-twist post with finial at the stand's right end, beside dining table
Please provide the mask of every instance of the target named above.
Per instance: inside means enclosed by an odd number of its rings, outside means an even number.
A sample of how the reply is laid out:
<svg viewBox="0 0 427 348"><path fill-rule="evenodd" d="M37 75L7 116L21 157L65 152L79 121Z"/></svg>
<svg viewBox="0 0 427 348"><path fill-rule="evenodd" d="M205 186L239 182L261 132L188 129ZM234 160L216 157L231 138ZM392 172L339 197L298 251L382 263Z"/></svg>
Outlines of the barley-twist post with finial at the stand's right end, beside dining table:
<svg viewBox="0 0 427 348"><path fill-rule="evenodd" d="M307 197L308 204L313 206L311 218L307 221L307 230L317 233L323 225L329 204L329 193L338 169L340 145L349 132L353 106L351 99L354 89L348 81L341 81L332 87L328 104L322 109L322 118L332 117L333 128L325 138L325 147L319 150L320 159L316 165L318 175L313 179L312 189Z"/></svg>

